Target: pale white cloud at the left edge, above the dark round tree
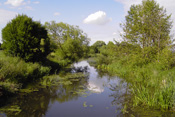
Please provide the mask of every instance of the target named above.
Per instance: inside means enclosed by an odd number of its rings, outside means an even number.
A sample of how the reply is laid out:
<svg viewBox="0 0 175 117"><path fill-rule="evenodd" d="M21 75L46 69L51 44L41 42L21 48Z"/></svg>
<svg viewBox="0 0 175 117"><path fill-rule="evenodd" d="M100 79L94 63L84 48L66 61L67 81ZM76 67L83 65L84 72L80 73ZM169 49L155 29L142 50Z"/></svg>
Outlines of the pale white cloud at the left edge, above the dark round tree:
<svg viewBox="0 0 175 117"><path fill-rule="evenodd" d="M0 9L0 25L6 24L17 15L16 12Z"/></svg>

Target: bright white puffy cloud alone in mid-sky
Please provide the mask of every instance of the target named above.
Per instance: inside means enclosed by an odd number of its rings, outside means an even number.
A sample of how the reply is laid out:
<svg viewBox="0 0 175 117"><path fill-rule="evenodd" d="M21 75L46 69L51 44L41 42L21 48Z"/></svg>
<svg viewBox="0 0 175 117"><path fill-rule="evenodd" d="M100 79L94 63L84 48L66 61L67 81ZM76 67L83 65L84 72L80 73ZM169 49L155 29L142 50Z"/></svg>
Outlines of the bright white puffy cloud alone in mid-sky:
<svg viewBox="0 0 175 117"><path fill-rule="evenodd" d="M97 24L105 25L106 23L112 21L112 18L107 18L106 13L103 11L98 11L90 14L86 19L84 19L85 24Z"/></svg>

